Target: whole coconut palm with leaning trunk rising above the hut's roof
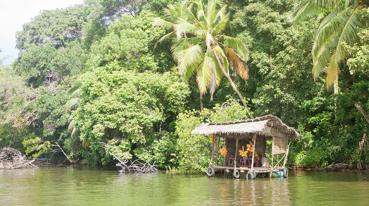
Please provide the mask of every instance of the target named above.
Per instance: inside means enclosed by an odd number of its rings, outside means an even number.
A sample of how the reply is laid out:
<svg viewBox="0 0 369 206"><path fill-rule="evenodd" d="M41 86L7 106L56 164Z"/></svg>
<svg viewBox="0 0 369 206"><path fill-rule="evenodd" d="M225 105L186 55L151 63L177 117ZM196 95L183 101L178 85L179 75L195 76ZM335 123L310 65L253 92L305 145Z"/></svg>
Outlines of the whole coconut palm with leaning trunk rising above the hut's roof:
<svg viewBox="0 0 369 206"><path fill-rule="evenodd" d="M221 35L221 32L229 26L230 13L226 13L227 5L222 0L209 0L204 10L201 0L194 1L194 4L197 6L196 14L189 6L183 11L182 15L185 18L178 17L173 25L173 32L177 37L172 42L172 53L178 62L182 80L188 82L196 72L200 93L206 93L209 89L212 100L215 88L220 84L221 77L225 75L249 116L254 118L244 97L229 75L231 63L232 68L243 79L248 79L248 67L245 61L249 51L241 40ZM182 34L190 37L181 38Z"/></svg>

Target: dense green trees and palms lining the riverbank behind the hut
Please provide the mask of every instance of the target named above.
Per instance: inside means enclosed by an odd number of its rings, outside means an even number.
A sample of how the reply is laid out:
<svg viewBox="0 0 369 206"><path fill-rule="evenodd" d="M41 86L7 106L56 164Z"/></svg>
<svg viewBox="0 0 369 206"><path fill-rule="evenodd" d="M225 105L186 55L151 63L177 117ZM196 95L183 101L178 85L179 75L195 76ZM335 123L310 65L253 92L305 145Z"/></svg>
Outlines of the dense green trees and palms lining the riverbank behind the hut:
<svg viewBox="0 0 369 206"><path fill-rule="evenodd" d="M304 2L43 10L17 32L17 59L0 65L0 146L88 164L120 151L203 172L209 137L193 128L273 114L303 136L290 166L368 167L368 3Z"/></svg>

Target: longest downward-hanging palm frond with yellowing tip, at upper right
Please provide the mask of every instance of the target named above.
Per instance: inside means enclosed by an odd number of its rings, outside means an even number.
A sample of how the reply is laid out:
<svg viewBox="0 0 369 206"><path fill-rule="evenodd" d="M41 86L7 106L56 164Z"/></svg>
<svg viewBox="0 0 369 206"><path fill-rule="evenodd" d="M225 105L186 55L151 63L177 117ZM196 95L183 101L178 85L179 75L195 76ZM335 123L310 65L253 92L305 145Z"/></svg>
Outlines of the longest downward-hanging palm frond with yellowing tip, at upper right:
<svg viewBox="0 0 369 206"><path fill-rule="evenodd" d="M344 58L348 58L348 53L342 46L343 42L354 43L358 41L356 28L359 22L355 17L354 6L341 7L328 14L318 27L315 35L313 47L313 74L317 78L324 68L327 73L327 89L337 79L341 73L339 64ZM332 50L334 52L332 53Z"/></svg>

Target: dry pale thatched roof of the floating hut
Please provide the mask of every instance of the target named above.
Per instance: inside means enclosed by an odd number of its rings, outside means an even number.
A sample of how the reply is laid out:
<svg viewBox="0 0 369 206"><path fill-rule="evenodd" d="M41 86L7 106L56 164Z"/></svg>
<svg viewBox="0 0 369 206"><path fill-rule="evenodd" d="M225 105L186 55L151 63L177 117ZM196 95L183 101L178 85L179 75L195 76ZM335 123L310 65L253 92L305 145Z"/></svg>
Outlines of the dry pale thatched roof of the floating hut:
<svg viewBox="0 0 369 206"><path fill-rule="evenodd" d="M252 120L234 122L209 122L192 130L191 134L225 136L230 138L249 138L251 135L289 139L300 139L301 135L293 127L283 124L280 118L271 114Z"/></svg>

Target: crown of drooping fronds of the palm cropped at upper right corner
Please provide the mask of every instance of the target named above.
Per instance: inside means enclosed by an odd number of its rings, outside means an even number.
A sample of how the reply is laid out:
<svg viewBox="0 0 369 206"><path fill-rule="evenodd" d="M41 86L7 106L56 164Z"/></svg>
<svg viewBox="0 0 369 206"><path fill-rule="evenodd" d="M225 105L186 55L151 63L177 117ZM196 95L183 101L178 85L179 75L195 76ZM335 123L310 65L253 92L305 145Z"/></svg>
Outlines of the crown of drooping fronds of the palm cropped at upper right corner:
<svg viewBox="0 0 369 206"><path fill-rule="evenodd" d="M360 25L356 11L366 7L366 0L300 0L290 12L290 21L297 28L312 14L320 18L314 39L313 75L314 80L325 71L327 89L341 73L339 64L349 55L342 42L354 44L358 41L356 28Z"/></svg>

